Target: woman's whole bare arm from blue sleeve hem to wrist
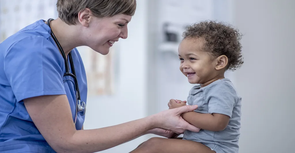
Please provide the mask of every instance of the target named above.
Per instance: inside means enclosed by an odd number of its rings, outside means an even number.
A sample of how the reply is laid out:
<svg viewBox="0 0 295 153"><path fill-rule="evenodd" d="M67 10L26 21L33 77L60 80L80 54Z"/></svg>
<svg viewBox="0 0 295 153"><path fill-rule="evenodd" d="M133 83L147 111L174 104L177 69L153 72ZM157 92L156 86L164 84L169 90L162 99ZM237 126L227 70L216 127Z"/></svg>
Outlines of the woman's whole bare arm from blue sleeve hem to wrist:
<svg viewBox="0 0 295 153"><path fill-rule="evenodd" d="M152 115L112 127L76 130L66 95L32 97L25 99L24 105L42 136L58 153L99 152L127 142L162 124Z"/></svg>

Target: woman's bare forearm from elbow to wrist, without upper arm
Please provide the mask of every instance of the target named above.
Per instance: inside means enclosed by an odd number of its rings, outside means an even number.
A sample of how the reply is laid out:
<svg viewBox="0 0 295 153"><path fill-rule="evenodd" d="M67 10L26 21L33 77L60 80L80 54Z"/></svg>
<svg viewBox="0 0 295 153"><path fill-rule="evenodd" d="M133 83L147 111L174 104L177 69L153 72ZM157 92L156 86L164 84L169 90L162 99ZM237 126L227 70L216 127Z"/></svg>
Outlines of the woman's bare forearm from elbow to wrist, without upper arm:
<svg viewBox="0 0 295 153"><path fill-rule="evenodd" d="M99 152L128 142L155 128L153 116L94 130L78 130L65 150L70 152ZM132 129L132 130L130 130ZM87 147L85 147L87 146ZM82 150L81 148L86 148Z"/></svg>

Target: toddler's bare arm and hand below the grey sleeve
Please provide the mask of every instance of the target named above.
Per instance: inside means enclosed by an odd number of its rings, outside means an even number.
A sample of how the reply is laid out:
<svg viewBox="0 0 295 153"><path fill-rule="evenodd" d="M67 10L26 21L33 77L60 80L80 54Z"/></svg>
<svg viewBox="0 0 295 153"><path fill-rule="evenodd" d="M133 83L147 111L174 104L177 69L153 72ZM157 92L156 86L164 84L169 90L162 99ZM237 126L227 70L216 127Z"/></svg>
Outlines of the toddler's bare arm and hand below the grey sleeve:
<svg viewBox="0 0 295 153"><path fill-rule="evenodd" d="M180 103L177 103L176 101ZM180 100L176 101L170 100L169 108L172 109L186 105ZM209 131L222 131L227 127L228 122L230 121L229 116L217 113L202 114L198 112L186 112L183 113L181 116L184 120L186 120L186 122L189 122L191 125Z"/></svg>

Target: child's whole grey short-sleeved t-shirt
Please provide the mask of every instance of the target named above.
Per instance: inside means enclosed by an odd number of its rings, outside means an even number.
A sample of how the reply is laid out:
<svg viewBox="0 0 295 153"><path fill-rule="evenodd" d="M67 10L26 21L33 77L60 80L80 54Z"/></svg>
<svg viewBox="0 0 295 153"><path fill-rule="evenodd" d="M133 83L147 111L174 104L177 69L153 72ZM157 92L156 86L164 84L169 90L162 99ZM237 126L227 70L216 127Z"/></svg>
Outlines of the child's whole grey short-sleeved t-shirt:
<svg viewBox="0 0 295 153"><path fill-rule="evenodd" d="M219 113L230 117L223 131L201 129L199 132L186 130L183 139L200 142L217 153L237 153L241 127L241 97L229 79L214 81L200 88L194 86L188 96L189 105L198 105L199 113Z"/></svg>

